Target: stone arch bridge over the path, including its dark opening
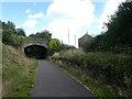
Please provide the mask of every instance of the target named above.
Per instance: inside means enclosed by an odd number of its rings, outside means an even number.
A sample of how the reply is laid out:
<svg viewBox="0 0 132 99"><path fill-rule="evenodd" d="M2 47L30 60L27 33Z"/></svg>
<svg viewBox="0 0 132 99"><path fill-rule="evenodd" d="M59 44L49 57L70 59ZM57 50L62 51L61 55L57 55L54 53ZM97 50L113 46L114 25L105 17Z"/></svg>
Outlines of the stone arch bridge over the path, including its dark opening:
<svg viewBox="0 0 132 99"><path fill-rule="evenodd" d="M28 57L46 58L48 41L42 37L28 37L22 46Z"/></svg>

